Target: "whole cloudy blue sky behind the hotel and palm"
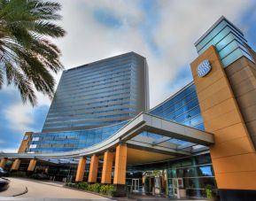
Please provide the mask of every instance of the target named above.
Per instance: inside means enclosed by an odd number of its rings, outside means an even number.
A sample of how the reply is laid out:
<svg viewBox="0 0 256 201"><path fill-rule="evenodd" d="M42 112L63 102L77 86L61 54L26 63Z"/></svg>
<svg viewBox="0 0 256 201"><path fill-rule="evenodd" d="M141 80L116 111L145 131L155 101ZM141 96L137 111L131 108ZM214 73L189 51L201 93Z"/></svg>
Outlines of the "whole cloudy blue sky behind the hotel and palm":
<svg viewBox="0 0 256 201"><path fill-rule="evenodd" d="M193 43L221 15L242 29L256 50L253 0L57 1L63 7L59 24L67 35L54 42L66 69L136 51L148 61L151 107L192 80L190 62L197 57ZM13 86L0 90L0 151L17 151L26 131L41 131L50 100L38 96L33 108L22 104Z"/></svg>

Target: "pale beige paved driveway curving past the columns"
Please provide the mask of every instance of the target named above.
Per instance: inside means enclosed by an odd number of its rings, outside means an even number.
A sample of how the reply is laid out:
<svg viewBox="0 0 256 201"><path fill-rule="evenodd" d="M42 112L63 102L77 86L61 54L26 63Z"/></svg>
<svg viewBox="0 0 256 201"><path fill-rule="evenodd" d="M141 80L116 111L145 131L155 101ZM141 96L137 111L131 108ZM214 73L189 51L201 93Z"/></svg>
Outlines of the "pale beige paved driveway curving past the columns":
<svg viewBox="0 0 256 201"><path fill-rule="evenodd" d="M11 181L10 188L0 192L0 200L52 200L52 198L65 198L69 200L110 200L105 197L100 197L91 193L82 192L75 189L66 189L58 182L41 182L37 180L27 180L20 178L9 178ZM21 193L26 189L27 193L18 197L12 197L14 194ZM9 197L7 199L7 197ZM26 199L22 199L25 198ZM30 197L30 198L28 198ZM18 199L17 199L18 198ZM65 200L63 199L63 200Z"/></svg>

